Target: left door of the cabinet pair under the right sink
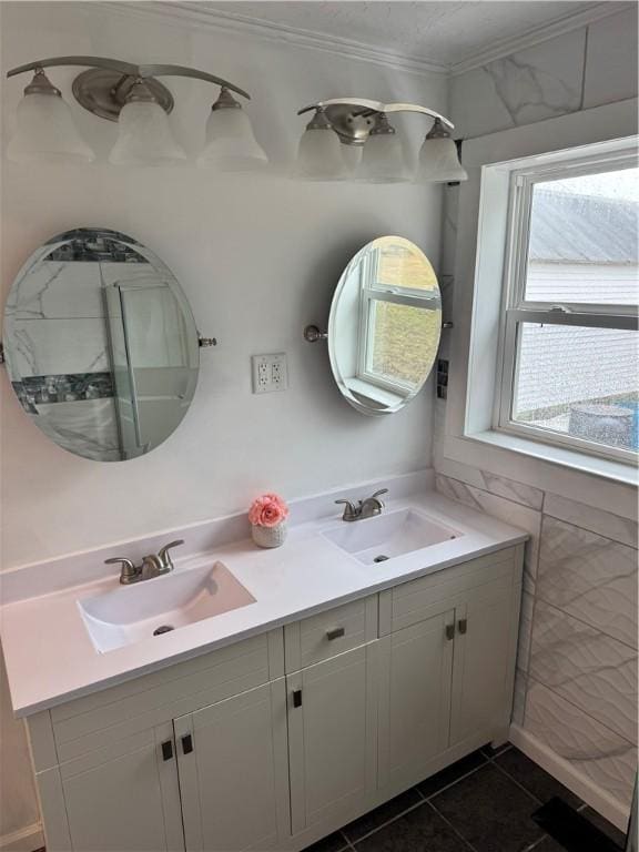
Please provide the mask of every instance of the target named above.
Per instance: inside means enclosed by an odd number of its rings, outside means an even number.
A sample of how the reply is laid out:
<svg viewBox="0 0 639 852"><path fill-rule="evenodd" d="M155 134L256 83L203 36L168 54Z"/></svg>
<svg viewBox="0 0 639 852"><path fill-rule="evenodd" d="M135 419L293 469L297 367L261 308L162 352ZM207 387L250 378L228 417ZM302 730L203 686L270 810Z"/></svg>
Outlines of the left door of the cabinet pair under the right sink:
<svg viewBox="0 0 639 852"><path fill-rule="evenodd" d="M448 746L453 609L385 637L379 688L379 788L419 781Z"/></svg>

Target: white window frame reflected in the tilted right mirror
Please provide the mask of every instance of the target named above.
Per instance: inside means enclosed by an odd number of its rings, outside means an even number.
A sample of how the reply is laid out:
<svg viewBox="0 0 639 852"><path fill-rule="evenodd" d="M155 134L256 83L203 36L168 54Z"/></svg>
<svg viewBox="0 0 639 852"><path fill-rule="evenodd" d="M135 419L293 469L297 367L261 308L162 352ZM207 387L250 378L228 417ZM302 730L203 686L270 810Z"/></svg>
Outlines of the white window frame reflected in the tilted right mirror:
<svg viewBox="0 0 639 852"><path fill-rule="evenodd" d="M442 307L438 292L396 287L377 282L377 253L369 253L361 268L361 301L359 301L359 342L357 346L358 363L356 377L362 382L389 390L403 398L415 393L417 385L376 373L372 368L373 337L375 331L374 311L376 302L386 302L407 307L418 307L422 311L437 311ZM433 303L432 305L429 303Z"/></svg>

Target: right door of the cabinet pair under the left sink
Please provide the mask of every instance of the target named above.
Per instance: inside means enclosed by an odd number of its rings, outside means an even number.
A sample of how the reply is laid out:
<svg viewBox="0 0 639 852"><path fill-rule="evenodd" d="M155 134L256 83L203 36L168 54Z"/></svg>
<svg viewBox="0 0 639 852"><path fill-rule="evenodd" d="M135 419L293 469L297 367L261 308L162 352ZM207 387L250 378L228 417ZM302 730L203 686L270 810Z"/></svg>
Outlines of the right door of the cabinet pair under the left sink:
<svg viewBox="0 0 639 852"><path fill-rule="evenodd" d="M173 724L187 852L276 846L288 824L284 679Z"/></svg>

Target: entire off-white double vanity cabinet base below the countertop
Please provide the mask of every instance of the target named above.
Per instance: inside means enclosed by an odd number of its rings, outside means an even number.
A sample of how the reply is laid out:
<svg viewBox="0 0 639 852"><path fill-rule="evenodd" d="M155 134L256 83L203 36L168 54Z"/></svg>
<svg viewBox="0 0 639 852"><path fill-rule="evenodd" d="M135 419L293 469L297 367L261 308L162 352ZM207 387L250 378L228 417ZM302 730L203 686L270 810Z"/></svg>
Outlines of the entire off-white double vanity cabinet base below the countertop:
<svg viewBox="0 0 639 852"><path fill-rule="evenodd" d="M505 739L521 565L509 547L29 717L48 852L300 852Z"/></svg>

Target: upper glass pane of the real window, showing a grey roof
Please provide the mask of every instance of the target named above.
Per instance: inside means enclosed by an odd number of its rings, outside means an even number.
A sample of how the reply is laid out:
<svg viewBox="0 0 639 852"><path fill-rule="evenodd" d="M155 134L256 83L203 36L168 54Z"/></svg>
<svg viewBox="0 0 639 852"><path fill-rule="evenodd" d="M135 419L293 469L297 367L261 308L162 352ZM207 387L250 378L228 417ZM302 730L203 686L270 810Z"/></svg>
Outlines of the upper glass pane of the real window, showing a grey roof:
<svg viewBox="0 0 639 852"><path fill-rule="evenodd" d="M526 300L638 302L639 169L536 183Z"/></svg>

